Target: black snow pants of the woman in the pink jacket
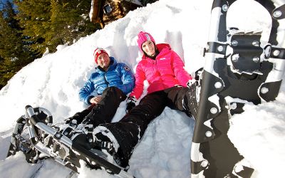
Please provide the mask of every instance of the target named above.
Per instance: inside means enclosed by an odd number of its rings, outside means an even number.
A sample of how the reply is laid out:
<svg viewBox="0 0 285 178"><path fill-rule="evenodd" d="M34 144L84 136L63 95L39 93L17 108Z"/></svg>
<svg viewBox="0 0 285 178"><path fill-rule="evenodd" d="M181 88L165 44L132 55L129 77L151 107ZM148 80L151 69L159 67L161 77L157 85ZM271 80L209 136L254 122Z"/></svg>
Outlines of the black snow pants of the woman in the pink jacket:
<svg viewBox="0 0 285 178"><path fill-rule="evenodd" d="M122 162L121 166L128 165L133 149L145 133L147 125L159 116L166 106L186 112L189 116L196 116L195 88L195 85L192 85L191 88L175 86L147 94L119 122L105 125L120 145L118 156Z"/></svg>

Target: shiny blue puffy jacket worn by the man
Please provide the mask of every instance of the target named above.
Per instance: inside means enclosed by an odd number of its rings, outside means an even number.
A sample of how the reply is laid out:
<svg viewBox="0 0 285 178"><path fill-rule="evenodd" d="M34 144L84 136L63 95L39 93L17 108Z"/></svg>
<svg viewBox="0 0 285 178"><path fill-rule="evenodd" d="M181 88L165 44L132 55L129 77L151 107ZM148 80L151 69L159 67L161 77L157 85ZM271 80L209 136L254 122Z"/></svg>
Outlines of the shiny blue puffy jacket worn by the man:
<svg viewBox="0 0 285 178"><path fill-rule="evenodd" d="M115 58L110 57L110 67L107 71L101 70L99 67L95 68L95 73L92 73L86 84L79 91L79 98L84 103L90 105L90 98L94 90L98 95L103 93L108 87L115 86L127 95L130 93L135 85L135 76L125 63L117 63Z"/></svg>

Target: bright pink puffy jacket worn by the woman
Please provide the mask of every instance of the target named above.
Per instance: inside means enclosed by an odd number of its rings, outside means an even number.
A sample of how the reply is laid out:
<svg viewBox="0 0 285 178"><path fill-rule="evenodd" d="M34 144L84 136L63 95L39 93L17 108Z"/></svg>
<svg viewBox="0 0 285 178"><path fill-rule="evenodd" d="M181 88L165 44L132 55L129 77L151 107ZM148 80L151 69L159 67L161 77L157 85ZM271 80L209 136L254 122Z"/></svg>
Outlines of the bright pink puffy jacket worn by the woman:
<svg viewBox="0 0 285 178"><path fill-rule="evenodd" d="M168 44L157 44L160 53L155 60L142 56L135 73L135 88L130 96L140 98L143 91L143 82L147 80L149 86L147 93L158 90L165 90L175 85L187 86L187 81L191 80L191 75L184 69L181 58L171 50Z"/></svg>

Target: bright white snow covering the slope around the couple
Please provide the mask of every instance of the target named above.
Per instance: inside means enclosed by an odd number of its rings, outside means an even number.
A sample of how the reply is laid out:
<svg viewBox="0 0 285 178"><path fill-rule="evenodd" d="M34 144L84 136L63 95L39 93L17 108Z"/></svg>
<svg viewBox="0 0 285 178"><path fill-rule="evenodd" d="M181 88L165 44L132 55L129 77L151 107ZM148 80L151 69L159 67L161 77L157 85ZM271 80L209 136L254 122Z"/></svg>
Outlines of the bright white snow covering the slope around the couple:
<svg viewBox="0 0 285 178"><path fill-rule="evenodd" d="M242 6L245 1L247 4ZM241 6L242 13L241 9L237 10ZM211 7L212 1L160 0L131 11L125 18L81 38L72 46L58 46L56 53L47 52L20 70L0 91L1 177L30 177L38 167L38 164L26 163L21 152L6 158L15 121L24 115L26 105L48 109L53 114L54 122L62 122L64 118L87 107L78 99L78 90L93 73L95 47L106 48L111 56L127 63L135 71L141 58L136 36L140 31L147 31L157 43L170 43L185 61L185 69L193 74L204 66L202 51L207 43ZM269 14L260 15L261 12L255 2L243 0L229 8L229 26L238 26L245 31L270 26L266 22ZM249 16L253 16L254 21ZM264 41L266 38L266 34L262 36ZM244 113L234 115L231 119L229 138L256 169L253 177L281 177L283 174L284 107L285 86L281 85L276 101L260 105L248 103ZM113 122L120 120L123 115L125 102L120 104ZM162 115L150 123L135 147L128 172L138 178L190 177L194 124L194 120L185 113L165 108ZM69 172L66 167L47 159L36 177L65 177ZM113 176L101 170L81 167L80 174L75 177Z"/></svg>

